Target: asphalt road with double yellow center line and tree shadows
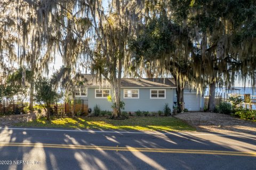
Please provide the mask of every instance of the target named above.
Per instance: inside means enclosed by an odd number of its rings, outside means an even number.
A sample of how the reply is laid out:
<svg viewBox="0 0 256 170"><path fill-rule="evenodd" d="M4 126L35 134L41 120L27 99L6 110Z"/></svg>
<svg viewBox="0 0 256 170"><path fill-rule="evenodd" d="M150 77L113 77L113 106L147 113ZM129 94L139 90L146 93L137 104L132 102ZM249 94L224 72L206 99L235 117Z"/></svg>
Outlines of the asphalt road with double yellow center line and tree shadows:
<svg viewBox="0 0 256 170"><path fill-rule="evenodd" d="M2 128L0 169L256 169L255 144L256 134Z"/></svg>

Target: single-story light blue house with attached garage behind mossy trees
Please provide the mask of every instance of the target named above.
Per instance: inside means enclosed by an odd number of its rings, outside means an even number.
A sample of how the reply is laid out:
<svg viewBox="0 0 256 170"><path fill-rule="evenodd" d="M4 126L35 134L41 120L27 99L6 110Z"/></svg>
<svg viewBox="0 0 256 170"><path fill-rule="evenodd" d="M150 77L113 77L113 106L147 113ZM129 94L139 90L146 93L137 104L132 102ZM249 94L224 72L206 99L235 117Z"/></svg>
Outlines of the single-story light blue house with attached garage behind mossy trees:
<svg viewBox="0 0 256 170"><path fill-rule="evenodd" d="M111 103L107 101L110 94L110 84L105 79L101 82L85 74L86 86L76 90L76 99L83 99L83 103L93 110L95 105L102 111L111 111ZM121 100L125 103L126 112L163 111L167 103L173 111L177 105L176 86L173 78L123 78L121 79ZM203 109L204 100L196 90L186 88L184 90L185 108L188 111L200 111Z"/></svg>

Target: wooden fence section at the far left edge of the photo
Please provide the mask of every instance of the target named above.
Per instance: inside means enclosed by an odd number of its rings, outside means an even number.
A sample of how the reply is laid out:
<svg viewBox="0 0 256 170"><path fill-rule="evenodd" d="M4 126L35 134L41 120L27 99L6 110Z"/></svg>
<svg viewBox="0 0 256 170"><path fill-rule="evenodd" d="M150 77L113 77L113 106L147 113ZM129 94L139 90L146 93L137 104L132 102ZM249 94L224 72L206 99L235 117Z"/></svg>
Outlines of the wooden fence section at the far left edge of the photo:
<svg viewBox="0 0 256 170"><path fill-rule="evenodd" d="M1 100L0 114L20 114L23 113L23 101L17 100Z"/></svg>

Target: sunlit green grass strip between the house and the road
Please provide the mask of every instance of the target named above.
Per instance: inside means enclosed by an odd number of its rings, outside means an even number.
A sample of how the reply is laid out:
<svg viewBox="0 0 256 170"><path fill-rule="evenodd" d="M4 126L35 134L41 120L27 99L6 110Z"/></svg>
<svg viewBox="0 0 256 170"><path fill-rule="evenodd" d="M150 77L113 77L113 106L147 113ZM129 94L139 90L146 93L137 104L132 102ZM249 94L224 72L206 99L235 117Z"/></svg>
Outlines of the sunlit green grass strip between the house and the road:
<svg viewBox="0 0 256 170"><path fill-rule="evenodd" d="M17 123L22 127L82 128L141 131L195 131L193 126L175 117L129 117L126 120L110 120L106 117L45 118Z"/></svg>

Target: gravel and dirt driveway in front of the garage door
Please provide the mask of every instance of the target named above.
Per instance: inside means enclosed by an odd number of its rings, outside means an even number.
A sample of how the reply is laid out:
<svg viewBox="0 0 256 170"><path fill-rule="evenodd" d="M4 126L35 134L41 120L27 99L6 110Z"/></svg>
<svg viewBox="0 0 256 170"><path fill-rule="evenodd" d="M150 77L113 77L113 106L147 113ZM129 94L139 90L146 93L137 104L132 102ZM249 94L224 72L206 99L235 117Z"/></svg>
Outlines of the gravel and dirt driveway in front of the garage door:
<svg viewBox="0 0 256 170"><path fill-rule="evenodd" d="M225 114L207 112L180 113L174 117L195 126L197 131L255 133L256 122L245 121Z"/></svg>

